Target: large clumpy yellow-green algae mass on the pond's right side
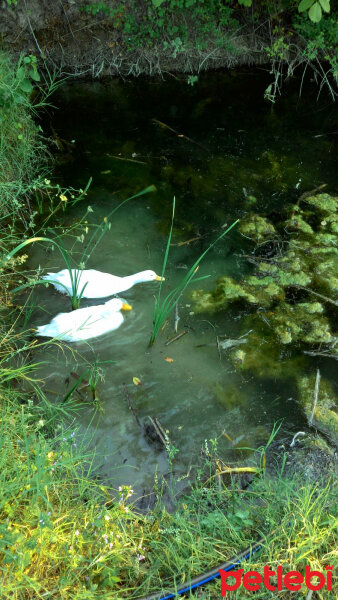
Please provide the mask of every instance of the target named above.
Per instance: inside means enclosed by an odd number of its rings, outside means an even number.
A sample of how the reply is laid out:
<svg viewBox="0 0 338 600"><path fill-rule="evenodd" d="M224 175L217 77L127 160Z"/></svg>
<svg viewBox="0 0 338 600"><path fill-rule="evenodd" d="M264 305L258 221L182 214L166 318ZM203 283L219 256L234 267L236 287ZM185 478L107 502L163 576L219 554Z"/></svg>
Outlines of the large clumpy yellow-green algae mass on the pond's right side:
<svg viewBox="0 0 338 600"><path fill-rule="evenodd" d="M221 277L214 290L193 292L196 312L224 310L231 303L247 307L241 333L253 333L229 353L237 370L299 377L305 363L300 353L333 356L337 207L336 197L318 194L301 197L279 222L249 215L239 230L255 243L253 273L239 281Z"/></svg>

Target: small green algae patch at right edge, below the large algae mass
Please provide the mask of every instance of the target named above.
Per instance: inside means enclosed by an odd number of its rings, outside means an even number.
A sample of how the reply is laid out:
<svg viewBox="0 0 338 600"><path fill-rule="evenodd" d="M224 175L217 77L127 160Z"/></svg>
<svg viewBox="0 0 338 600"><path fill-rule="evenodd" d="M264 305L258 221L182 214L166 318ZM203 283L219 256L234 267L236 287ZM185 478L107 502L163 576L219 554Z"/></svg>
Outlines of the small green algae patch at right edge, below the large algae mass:
<svg viewBox="0 0 338 600"><path fill-rule="evenodd" d="M309 420L315 400L315 382L315 375L311 377L299 377L297 379L299 402ZM337 396L334 394L330 383L325 379L321 379L318 401L313 413L313 425L335 440L337 440L338 436L337 400Z"/></svg>

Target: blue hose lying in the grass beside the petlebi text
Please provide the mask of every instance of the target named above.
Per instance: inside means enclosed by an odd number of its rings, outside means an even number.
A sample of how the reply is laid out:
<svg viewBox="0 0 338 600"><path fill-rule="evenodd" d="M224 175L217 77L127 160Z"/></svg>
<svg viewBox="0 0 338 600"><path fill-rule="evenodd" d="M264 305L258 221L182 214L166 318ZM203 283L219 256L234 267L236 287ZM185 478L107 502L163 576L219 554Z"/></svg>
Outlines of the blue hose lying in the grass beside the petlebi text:
<svg viewBox="0 0 338 600"><path fill-rule="evenodd" d="M231 571L234 567L241 564L244 560L248 560L255 552L258 552L264 543L264 540L261 539L249 548L246 548L243 552L236 556L232 556L227 562L214 567L210 571L203 573L202 575L197 575L194 577L189 584L184 583L175 591L166 591L166 592L156 592L155 594L151 594L150 596L142 596L139 600L169 600L169 598L175 598L179 594L185 594L186 592L190 592L191 590L204 585L205 583L209 583L213 579L220 577L219 570L223 571Z"/></svg>

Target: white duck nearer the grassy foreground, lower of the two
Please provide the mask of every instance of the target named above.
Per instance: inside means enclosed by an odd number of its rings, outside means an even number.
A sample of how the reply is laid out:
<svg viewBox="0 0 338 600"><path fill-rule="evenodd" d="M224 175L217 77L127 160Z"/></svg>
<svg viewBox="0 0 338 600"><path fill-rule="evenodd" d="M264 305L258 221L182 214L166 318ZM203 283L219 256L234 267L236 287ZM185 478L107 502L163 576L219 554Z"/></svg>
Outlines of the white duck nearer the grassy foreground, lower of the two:
<svg viewBox="0 0 338 600"><path fill-rule="evenodd" d="M100 306L78 308L68 313L59 313L47 325L37 327L37 335L57 337L67 342L81 342L114 331L124 319L120 310L131 310L119 298L108 300Z"/></svg>

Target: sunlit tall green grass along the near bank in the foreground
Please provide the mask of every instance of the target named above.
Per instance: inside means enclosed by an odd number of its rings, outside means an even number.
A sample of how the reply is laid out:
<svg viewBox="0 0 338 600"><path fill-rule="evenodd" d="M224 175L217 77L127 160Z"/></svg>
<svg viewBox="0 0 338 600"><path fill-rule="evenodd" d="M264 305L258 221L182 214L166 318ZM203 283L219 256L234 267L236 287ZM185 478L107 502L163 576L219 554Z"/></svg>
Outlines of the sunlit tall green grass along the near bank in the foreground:
<svg viewBox="0 0 338 600"><path fill-rule="evenodd" d="M73 425L56 429L60 409L1 386L0 399L1 598L139 598L175 589L260 537L263 548L245 571L282 564L304 572L308 564L325 572L337 558L330 483L320 488L262 471L246 490L235 482L220 487L205 482L205 464L174 511L159 498L153 511L140 514L123 482L115 490L95 479L93 454ZM241 600L240 592L232 597ZM220 582L206 586L203 597L218 599ZM274 597L287 596L284 590Z"/></svg>

